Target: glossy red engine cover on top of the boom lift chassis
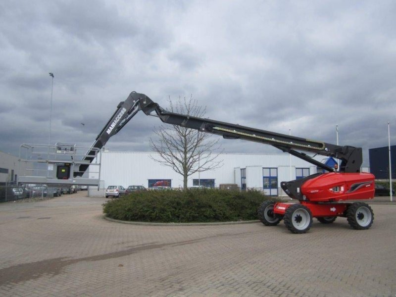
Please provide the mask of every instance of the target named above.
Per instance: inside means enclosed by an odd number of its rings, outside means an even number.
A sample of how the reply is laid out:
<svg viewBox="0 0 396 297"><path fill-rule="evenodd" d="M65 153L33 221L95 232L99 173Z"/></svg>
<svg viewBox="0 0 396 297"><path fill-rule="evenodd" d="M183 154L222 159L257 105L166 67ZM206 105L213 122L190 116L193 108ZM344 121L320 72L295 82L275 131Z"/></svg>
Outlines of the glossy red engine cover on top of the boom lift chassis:
<svg viewBox="0 0 396 297"><path fill-rule="evenodd" d="M374 198L374 175L371 173L330 172L307 180L301 194L309 201L340 201Z"/></svg>

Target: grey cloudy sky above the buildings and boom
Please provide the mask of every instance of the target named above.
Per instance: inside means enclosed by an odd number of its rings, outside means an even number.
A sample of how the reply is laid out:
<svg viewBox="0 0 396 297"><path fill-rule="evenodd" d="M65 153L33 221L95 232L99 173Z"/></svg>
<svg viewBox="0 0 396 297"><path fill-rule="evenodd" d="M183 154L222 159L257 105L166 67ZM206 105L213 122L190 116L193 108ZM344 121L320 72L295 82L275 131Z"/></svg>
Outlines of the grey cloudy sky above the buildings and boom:
<svg viewBox="0 0 396 297"><path fill-rule="evenodd" d="M368 148L396 144L395 1L0 2L0 150L90 146L131 91L212 119ZM84 125L82 125L82 123ZM147 151L138 114L110 150ZM222 140L227 152L278 152Z"/></svg>

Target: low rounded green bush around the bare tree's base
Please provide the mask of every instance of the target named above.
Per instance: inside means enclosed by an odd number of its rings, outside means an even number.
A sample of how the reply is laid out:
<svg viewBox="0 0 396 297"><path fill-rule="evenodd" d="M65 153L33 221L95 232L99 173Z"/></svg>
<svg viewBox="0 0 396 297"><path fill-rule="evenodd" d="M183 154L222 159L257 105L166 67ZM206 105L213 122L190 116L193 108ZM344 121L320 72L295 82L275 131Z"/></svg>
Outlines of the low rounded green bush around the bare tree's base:
<svg viewBox="0 0 396 297"><path fill-rule="evenodd" d="M257 219L257 208L269 197L259 191L193 189L144 191L103 204L107 217L124 221L188 223Z"/></svg>

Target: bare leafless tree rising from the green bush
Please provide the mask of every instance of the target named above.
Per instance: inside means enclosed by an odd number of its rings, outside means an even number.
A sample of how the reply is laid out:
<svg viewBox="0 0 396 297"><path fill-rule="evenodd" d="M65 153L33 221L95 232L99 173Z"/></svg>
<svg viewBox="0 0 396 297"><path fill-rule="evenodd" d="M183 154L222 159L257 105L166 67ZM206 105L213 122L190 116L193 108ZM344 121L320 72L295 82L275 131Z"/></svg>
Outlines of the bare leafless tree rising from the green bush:
<svg viewBox="0 0 396 297"><path fill-rule="evenodd" d="M195 117L203 117L206 113L206 108L198 106L193 96L190 99L179 97L176 105L169 98L168 110ZM149 145L158 153L158 157L152 159L181 174L184 190L187 189L190 175L223 166L223 160L217 160L223 151L219 139L210 140L210 134L177 125L160 125L154 129L154 133L159 140L154 142L150 138Z"/></svg>

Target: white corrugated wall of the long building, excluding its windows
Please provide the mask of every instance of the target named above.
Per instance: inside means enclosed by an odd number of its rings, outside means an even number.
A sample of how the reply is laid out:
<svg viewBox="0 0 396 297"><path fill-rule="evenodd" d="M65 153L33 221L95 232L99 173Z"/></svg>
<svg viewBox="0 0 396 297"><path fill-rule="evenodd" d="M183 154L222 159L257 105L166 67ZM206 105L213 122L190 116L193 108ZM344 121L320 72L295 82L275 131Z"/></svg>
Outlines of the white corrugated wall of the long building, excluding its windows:
<svg viewBox="0 0 396 297"><path fill-rule="evenodd" d="M152 159L157 157L158 154L154 152L103 151L101 153L100 180L103 181L104 187L109 185L124 187L143 185L147 187L149 179L170 179L173 188L182 187L182 175ZM295 179L296 167L310 168L310 174L316 173L315 166L292 156L292 177L290 178L288 154L222 153L219 159L222 159L224 163L221 168L199 174L200 179L214 179L216 187L220 184L240 184L240 181L236 181L236 178L240 179L240 174L235 173L235 169L238 167L247 168L248 188L262 188L263 167L278 168L279 184L282 181ZM189 177L189 187L193 185L193 179L198 179L198 172Z"/></svg>

